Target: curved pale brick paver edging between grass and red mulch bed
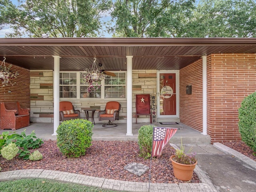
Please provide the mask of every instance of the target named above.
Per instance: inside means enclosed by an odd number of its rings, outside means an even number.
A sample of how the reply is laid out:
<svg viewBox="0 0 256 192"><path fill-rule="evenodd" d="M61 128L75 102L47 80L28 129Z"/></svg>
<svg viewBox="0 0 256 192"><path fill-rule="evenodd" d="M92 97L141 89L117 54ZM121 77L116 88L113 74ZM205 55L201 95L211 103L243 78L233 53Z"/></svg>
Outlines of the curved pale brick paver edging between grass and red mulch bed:
<svg viewBox="0 0 256 192"><path fill-rule="evenodd" d="M200 169L200 168L199 168ZM129 192L147 192L148 183L121 181L107 178L98 178L85 176L75 173L62 171L44 170L44 169L25 169L0 172L0 181L16 180L21 178L41 178L58 180L61 182L72 182L86 186L94 186L110 190L129 191ZM150 192L216 192L215 188L206 182L202 183L150 183Z"/></svg>

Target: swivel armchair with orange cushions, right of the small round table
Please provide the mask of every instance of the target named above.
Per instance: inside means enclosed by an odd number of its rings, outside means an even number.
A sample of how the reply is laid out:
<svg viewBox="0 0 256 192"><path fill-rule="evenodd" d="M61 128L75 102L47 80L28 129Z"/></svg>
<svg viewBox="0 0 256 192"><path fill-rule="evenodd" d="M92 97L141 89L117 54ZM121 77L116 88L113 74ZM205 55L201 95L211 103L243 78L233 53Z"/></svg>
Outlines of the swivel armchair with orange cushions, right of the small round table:
<svg viewBox="0 0 256 192"><path fill-rule="evenodd" d="M117 125L111 121L119 120L120 109L120 103L116 101L107 102L105 110L99 111L99 121L108 120L108 123L102 125L102 127L116 127Z"/></svg>

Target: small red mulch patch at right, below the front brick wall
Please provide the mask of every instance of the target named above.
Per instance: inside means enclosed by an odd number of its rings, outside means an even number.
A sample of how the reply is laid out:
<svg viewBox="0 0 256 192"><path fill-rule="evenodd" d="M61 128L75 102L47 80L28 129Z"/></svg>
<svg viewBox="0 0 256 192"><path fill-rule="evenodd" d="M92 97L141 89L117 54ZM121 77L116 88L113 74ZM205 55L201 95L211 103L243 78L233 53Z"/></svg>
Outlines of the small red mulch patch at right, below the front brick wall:
<svg viewBox="0 0 256 192"><path fill-rule="evenodd" d="M223 142L222 144L244 154L245 156L251 158L252 160L256 161L256 152L250 149L244 142L242 141L230 141L230 142Z"/></svg>

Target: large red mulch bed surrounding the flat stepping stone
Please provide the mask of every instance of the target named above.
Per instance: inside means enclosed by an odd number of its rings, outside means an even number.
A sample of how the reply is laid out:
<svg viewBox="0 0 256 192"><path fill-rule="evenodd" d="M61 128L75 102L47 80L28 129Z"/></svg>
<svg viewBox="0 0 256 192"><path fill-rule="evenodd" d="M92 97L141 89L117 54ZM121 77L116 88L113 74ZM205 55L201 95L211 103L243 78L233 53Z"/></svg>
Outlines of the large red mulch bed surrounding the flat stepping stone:
<svg viewBox="0 0 256 192"><path fill-rule="evenodd" d="M20 160L18 157L8 161L1 156L2 171L46 169L124 181L149 181L149 170L140 177L124 170L124 166L132 162L150 167L149 159L145 160L138 156L139 147L134 141L92 141L92 146L88 148L86 155L80 158L66 158L56 146L56 141L52 140L45 141L38 150L43 154L43 159L40 161ZM174 177L170 162L172 154L174 149L166 145L162 156L152 160L150 182L182 182ZM195 173L191 182L200 182Z"/></svg>

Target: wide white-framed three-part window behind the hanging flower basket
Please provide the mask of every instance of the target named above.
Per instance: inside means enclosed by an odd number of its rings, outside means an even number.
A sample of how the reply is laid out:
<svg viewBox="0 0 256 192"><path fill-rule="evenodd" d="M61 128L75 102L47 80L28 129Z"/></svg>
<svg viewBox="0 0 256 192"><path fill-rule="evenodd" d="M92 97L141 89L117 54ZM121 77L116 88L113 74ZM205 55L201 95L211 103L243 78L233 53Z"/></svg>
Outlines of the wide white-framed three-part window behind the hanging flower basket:
<svg viewBox="0 0 256 192"><path fill-rule="evenodd" d="M126 72L114 72L116 76L106 76L105 80L94 84L95 90L87 92L83 72L60 72L60 98L126 98Z"/></svg>

